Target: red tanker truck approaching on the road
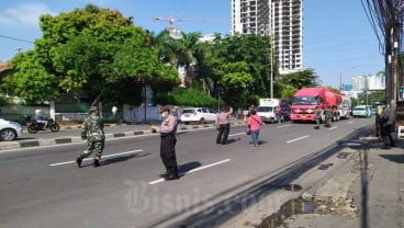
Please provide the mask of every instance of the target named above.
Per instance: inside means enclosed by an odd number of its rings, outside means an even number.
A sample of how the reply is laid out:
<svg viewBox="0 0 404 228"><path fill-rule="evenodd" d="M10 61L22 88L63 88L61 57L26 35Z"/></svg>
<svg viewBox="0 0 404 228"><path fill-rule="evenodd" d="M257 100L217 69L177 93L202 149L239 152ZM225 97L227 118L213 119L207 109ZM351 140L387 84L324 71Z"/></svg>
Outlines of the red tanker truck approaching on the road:
<svg viewBox="0 0 404 228"><path fill-rule="evenodd" d="M324 110L333 110L333 121L349 117L350 100L344 94L327 88L303 88L292 100L291 121L315 121L315 110L322 110L322 119L325 119Z"/></svg>

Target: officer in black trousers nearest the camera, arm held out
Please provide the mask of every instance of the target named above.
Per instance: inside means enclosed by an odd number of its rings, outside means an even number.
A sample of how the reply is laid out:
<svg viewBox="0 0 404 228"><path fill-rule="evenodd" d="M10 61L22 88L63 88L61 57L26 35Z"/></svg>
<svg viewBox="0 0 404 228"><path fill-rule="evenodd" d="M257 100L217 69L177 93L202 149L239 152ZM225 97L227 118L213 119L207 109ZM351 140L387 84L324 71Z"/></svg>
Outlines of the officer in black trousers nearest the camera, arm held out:
<svg viewBox="0 0 404 228"><path fill-rule="evenodd" d="M161 126L150 126L152 132L160 133L160 158L162 164L166 168L166 172L160 174L166 181L177 180L178 176L178 164L176 157L176 133L177 133L177 118L170 114L168 106L162 106L161 110Z"/></svg>

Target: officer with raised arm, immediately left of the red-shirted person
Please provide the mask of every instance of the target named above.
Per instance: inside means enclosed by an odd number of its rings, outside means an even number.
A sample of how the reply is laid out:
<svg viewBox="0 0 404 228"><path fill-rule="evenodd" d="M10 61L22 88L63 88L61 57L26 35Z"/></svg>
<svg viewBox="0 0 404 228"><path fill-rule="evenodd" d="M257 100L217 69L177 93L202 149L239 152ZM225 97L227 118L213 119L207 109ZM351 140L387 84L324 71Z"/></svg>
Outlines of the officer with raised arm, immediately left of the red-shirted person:
<svg viewBox="0 0 404 228"><path fill-rule="evenodd" d="M228 122L229 116L233 113L233 107L225 106L220 113L216 114L215 126L217 132L216 144L226 145L228 133L231 132L231 123Z"/></svg>

